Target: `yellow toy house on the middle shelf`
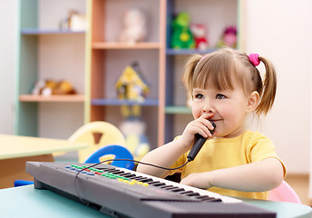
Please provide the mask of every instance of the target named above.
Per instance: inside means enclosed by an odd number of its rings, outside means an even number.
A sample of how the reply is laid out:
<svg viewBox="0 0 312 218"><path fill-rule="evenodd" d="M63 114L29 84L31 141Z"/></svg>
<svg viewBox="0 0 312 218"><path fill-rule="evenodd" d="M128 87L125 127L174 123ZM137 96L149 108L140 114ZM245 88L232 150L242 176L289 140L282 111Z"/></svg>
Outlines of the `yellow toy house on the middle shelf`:
<svg viewBox="0 0 312 218"><path fill-rule="evenodd" d="M143 102L150 91L142 77L139 64L134 62L128 65L116 83L118 98L122 100L132 100Z"/></svg>

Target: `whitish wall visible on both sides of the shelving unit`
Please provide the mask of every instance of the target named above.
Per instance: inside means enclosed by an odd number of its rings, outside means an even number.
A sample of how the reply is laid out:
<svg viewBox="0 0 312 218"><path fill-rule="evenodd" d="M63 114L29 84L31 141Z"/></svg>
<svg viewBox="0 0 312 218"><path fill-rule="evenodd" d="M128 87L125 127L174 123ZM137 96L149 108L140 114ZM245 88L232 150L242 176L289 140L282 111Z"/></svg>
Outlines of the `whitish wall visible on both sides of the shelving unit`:
<svg viewBox="0 0 312 218"><path fill-rule="evenodd" d="M309 0L249 0L244 50L272 60L278 72L273 110L258 128L277 145L288 173L308 173L311 146L311 13ZM16 0L0 0L0 134L13 134ZM282 6L281 6L282 5ZM312 195L312 194L311 194Z"/></svg>

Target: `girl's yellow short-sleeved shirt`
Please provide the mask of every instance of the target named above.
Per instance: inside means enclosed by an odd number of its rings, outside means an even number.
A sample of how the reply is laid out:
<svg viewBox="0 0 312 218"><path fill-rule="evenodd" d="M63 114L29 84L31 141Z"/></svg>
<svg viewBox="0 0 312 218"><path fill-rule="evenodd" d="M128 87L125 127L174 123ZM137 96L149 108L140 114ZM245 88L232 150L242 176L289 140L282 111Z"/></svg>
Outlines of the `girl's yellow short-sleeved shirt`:
<svg viewBox="0 0 312 218"><path fill-rule="evenodd" d="M188 153L180 156L180 158L172 165L172 168L186 163L187 156ZM258 132L245 131L243 134L240 134L235 138L215 138L208 140L202 146L200 153L197 154L194 161L188 163L181 170L177 171L181 171L181 179L183 179L190 173L210 172L232 166L259 162L268 157L278 159L272 141ZM285 175L286 167L282 161L280 161L280 163L282 163L284 167ZM244 178L241 179L243 180ZM211 187L209 191L229 196L263 200L268 199L268 192L249 193L218 187Z"/></svg>

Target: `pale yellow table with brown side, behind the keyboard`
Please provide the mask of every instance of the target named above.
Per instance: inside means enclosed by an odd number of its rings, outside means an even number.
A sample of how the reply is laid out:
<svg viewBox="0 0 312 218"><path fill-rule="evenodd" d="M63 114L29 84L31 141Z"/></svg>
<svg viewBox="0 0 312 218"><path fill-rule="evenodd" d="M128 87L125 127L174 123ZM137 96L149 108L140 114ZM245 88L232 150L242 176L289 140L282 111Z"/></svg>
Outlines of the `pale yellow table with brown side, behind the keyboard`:
<svg viewBox="0 0 312 218"><path fill-rule="evenodd" d="M68 140L0 134L0 189L15 180L33 180L24 171L26 161L54 162L53 153L75 151L88 144Z"/></svg>

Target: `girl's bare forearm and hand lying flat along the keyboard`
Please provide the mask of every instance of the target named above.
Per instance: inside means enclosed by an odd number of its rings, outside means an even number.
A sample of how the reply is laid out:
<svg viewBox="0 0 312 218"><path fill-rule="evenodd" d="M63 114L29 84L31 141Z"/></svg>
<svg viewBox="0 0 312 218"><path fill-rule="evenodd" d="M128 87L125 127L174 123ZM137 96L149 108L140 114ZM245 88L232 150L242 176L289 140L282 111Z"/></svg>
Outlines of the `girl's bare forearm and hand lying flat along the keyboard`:
<svg viewBox="0 0 312 218"><path fill-rule="evenodd" d="M212 186L244 192L264 192L278 187L284 168L276 158L205 173L191 173L180 183L202 189Z"/></svg>

